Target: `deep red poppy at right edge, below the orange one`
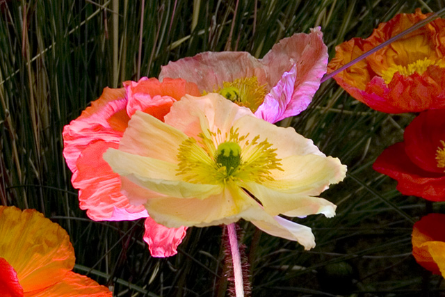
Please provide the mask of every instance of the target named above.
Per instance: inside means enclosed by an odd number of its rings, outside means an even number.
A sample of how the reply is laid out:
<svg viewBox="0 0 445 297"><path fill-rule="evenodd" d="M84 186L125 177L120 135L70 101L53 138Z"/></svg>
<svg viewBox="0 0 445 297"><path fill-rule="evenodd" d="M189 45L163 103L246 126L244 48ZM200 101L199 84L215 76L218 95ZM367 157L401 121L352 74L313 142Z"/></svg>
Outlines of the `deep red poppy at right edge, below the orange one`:
<svg viewBox="0 0 445 297"><path fill-rule="evenodd" d="M374 170L396 179L404 195L445 201L445 110L424 111L403 138L378 156Z"/></svg>

